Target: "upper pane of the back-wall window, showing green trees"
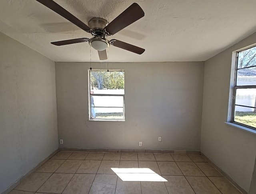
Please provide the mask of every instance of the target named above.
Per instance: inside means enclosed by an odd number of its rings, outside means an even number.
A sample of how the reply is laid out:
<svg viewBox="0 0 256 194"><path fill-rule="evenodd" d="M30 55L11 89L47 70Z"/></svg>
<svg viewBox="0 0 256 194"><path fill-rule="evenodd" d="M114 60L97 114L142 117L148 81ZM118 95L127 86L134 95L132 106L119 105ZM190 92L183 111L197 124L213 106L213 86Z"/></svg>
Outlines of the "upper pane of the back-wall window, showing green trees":
<svg viewBox="0 0 256 194"><path fill-rule="evenodd" d="M94 94L124 94L124 72L90 71Z"/></svg>

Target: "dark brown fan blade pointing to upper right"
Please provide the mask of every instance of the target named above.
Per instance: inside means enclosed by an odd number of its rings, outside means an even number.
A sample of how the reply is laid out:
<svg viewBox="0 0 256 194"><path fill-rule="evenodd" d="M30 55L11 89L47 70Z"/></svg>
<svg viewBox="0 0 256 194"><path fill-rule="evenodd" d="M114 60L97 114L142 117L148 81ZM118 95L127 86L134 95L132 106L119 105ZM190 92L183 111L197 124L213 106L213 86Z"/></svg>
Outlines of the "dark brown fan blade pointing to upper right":
<svg viewBox="0 0 256 194"><path fill-rule="evenodd" d="M133 22L136 22L144 15L145 13L142 8L138 4L133 3L130 7L124 10L124 12L117 16L112 22L110 22L105 27L105 29L109 34L116 34L116 32L119 32L126 26L129 26Z"/></svg>

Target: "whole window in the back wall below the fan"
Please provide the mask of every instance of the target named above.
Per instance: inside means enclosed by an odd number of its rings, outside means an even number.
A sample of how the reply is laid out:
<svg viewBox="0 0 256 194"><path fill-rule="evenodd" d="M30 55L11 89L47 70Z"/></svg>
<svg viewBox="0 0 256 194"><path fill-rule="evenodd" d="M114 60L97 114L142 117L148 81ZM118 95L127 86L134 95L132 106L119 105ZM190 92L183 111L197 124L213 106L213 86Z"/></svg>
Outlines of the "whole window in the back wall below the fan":
<svg viewBox="0 0 256 194"><path fill-rule="evenodd" d="M89 120L124 120L124 71L88 71Z"/></svg>

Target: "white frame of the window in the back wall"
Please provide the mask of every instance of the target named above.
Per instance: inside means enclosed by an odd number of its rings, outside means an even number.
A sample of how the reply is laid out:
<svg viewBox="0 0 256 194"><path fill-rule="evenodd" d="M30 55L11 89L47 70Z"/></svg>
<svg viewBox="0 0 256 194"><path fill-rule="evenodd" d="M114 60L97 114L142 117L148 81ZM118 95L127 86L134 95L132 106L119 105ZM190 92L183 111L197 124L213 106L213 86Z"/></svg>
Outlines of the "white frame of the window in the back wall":
<svg viewBox="0 0 256 194"><path fill-rule="evenodd" d="M89 120L90 121L125 121L125 78L124 78L124 94L91 94L91 81L90 81L90 72L124 72L124 70L88 70L88 107L89 107ZM124 76L125 77L125 76ZM102 107L102 108L123 108L124 118L92 118L92 96L122 96L123 97L123 107ZM97 107L96 107L97 108Z"/></svg>

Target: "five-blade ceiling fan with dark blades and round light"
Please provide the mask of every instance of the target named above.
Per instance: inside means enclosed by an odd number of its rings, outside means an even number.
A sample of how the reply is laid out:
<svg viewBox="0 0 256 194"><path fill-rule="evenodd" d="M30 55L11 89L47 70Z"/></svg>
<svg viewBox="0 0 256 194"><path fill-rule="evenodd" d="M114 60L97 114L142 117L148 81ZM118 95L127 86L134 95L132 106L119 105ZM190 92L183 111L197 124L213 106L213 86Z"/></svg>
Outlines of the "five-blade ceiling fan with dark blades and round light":
<svg viewBox="0 0 256 194"><path fill-rule="evenodd" d="M62 46L66 44L74 44L80 42L89 42L89 44L96 50L98 50L100 60L106 60L108 58L106 53L106 48L111 45L128 50L130 52L134 52L137 54L142 54L145 49L140 48L138 46L134 46L132 44L128 44L126 42L122 42L120 40L112 39L107 40L108 36L112 36L116 34L120 30L126 28L133 22L136 22L140 18L144 16L144 12L142 8L133 3L130 7L128 7L124 12L122 12L119 16L117 16L112 22L108 24L108 21L104 18L94 17L91 18L88 22L88 26L84 24L81 20L76 18L74 15L70 14L67 10L62 8L59 4L54 2L53 0L36 0L43 4L44 6L50 8L57 14L60 14L62 17L66 18L85 32L92 34L93 38L76 38L70 40L62 40L57 42L51 42L56 46ZM90 27L89 27L90 26Z"/></svg>

